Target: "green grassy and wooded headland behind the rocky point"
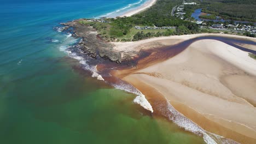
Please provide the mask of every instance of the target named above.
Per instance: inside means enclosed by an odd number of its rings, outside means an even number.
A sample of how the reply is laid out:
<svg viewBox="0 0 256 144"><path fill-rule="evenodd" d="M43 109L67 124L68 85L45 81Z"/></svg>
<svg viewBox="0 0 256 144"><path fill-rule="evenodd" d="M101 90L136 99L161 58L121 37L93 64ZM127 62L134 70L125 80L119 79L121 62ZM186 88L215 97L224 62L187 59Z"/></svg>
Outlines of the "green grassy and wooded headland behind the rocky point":
<svg viewBox="0 0 256 144"><path fill-rule="evenodd" d="M158 0L148 10L130 17L105 19L108 23L80 21L83 25L94 27L98 37L107 41L136 41L151 37L199 33L196 23L184 21L171 15L175 5L182 4L181 0ZM135 26L164 27L176 26L176 29L135 29Z"/></svg>

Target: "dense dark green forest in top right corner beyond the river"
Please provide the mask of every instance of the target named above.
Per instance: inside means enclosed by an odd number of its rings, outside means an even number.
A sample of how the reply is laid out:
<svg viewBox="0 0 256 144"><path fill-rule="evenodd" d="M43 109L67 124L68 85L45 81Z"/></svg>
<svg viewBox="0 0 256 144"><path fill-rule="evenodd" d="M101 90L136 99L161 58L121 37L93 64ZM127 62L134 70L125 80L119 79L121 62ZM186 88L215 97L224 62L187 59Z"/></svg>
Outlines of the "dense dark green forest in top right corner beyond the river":
<svg viewBox="0 0 256 144"><path fill-rule="evenodd" d="M255 0L205 0L202 12L224 19L256 21Z"/></svg>

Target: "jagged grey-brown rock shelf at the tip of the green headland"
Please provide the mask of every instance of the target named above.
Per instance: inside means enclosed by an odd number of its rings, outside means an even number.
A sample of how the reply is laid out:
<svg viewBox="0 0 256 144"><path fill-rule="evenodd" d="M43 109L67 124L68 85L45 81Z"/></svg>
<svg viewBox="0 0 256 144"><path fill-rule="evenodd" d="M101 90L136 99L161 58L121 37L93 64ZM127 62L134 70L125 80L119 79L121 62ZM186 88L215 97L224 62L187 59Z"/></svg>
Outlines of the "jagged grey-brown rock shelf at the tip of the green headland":
<svg viewBox="0 0 256 144"><path fill-rule="evenodd" d="M84 19L61 23L61 25L65 26L63 30L72 28L72 37L81 39L74 47L77 47L86 55L92 58L100 56L117 63L129 62L132 58L138 56L139 52L136 51L113 49L114 45L98 37L97 31L93 27L80 24L79 21L82 20Z"/></svg>

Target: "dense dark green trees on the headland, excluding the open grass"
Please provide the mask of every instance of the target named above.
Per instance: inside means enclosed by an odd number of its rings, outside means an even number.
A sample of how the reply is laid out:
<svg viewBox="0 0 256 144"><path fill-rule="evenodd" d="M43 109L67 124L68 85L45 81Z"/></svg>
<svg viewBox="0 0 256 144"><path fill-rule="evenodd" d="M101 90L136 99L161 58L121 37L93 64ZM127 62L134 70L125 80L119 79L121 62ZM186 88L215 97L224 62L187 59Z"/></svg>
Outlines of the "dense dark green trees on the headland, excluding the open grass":
<svg viewBox="0 0 256 144"><path fill-rule="evenodd" d="M117 17L117 19L108 19L112 22L112 29L110 35L117 35L129 33L130 29L136 25L138 26L176 26L175 34L193 34L199 32L199 26L190 21L184 21L171 15L172 8L175 5L182 4L182 0L158 0L148 10L130 17ZM180 27L182 26L182 27ZM184 31L184 28L185 31ZM168 34L167 34L168 33ZM140 40L150 37L159 37L161 35L172 35L169 31L165 33L137 33L133 40Z"/></svg>

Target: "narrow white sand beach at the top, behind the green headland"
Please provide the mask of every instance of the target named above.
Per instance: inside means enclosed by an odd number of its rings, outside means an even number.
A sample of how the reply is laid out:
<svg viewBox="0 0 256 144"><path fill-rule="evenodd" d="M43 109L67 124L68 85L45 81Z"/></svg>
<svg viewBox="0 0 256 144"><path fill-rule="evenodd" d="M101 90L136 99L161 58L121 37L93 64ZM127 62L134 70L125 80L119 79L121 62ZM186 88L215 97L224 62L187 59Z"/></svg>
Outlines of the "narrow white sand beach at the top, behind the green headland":
<svg viewBox="0 0 256 144"><path fill-rule="evenodd" d="M147 8L151 7L155 3L156 3L156 0L148 0L146 3L142 4L138 8L132 9L130 11L127 11L125 14L120 15L120 17L132 16L132 15L137 14L137 13L143 11L143 10L146 10Z"/></svg>

